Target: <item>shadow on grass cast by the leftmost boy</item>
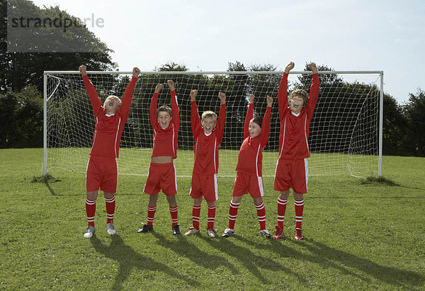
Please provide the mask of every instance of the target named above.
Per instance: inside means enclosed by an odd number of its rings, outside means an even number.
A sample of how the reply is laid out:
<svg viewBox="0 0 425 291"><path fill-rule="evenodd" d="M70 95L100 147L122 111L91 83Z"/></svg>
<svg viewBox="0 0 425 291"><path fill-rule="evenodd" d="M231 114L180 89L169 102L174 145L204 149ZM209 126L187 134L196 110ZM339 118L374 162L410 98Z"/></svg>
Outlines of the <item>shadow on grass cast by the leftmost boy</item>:
<svg viewBox="0 0 425 291"><path fill-rule="evenodd" d="M127 280L128 276L131 273L132 268L137 268L139 270L157 270L159 272L164 272L168 274L171 278L177 278L179 280L184 280L188 285L196 287L199 285L196 280L187 278L175 270L172 270L164 263L160 263L152 260L147 256L142 256L140 253L137 253L130 246L124 244L123 239L118 234L111 236L112 241L109 246L106 246L101 243L96 236L91 237L91 244L94 246L94 249L99 253L102 253L106 258L111 258L120 265L118 275L115 277L115 282L113 283L112 290L122 290L123 283Z"/></svg>

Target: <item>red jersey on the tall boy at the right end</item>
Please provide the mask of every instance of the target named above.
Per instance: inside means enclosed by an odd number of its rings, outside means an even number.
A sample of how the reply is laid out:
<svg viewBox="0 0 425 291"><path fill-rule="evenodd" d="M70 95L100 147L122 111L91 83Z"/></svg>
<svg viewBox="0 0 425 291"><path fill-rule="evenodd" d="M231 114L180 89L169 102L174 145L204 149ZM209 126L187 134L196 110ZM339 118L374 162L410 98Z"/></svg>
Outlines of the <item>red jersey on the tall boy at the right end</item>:
<svg viewBox="0 0 425 291"><path fill-rule="evenodd" d="M310 121L319 97L319 76L313 74L310 86L310 98L298 115L288 107L288 74L283 73L278 91L279 103L279 159L305 159L310 157L308 136Z"/></svg>

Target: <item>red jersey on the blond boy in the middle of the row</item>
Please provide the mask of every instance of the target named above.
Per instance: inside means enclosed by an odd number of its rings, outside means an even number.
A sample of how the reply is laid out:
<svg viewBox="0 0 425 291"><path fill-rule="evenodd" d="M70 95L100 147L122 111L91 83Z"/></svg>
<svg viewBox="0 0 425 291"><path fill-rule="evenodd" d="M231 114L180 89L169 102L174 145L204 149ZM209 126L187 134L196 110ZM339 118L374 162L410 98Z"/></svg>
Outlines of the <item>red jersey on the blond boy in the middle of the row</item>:
<svg viewBox="0 0 425 291"><path fill-rule="evenodd" d="M193 173L199 175L213 175L218 173L218 146L223 139L226 122L226 104L220 105L215 129L210 135L205 135L200 122L198 105L196 101L191 101L191 125L193 138L195 139L195 161L193 163Z"/></svg>

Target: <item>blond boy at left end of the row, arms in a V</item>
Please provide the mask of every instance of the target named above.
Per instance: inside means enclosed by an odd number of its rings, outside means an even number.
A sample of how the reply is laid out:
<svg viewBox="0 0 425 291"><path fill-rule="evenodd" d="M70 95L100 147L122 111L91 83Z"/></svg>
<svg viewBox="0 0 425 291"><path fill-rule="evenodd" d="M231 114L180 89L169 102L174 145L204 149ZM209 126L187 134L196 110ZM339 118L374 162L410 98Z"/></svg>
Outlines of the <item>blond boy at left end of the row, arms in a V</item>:
<svg viewBox="0 0 425 291"><path fill-rule="evenodd" d="M132 79L124 91L123 100L121 101L117 96L108 96L103 106L96 89L94 89L89 76L86 74L84 64L79 67L79 72L89 94L96 118L93 146L91 147L86 174L86 215L89 226L84 232L84 237L89 239L95 232L94 215L99 188L103 191L106 201L106 231L110 235L115 234L113 215L115 213L115 192L118 182L118 151L124 125L130 113L132 93L135 90L140 69L136 67L132 69Z"/></svg>

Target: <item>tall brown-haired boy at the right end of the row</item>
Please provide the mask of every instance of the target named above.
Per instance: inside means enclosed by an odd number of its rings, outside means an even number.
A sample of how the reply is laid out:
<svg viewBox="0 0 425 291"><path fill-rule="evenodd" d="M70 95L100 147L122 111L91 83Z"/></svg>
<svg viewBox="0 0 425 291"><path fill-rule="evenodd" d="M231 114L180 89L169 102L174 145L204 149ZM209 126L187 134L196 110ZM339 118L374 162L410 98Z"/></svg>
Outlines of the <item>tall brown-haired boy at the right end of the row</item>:
<svg viewBox="0 0 425 291"><path fill-rule="evenodd" d="M308 135L310 121L319 96L319 77L316 64L309 64L313 78L310 86L310 98L304 90L295 90L290 93L288 100L288 74L294 67L290 62L280 79L278 91L280 135L279 159L276 165L275 190L278 197L278 225L273 239L283 236L283 219L285 218L286 203L289 197L289 188L293 188L295 204L295 236L296 241L304 239L302 236L302 212L304 211L304 194L307 193L308 164L310 156ZM289 105L289 107L288 107Z"/></svg>

